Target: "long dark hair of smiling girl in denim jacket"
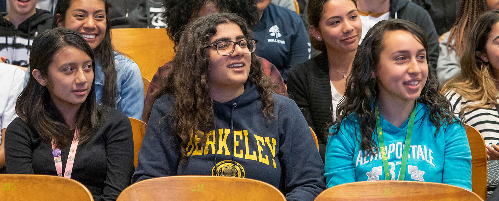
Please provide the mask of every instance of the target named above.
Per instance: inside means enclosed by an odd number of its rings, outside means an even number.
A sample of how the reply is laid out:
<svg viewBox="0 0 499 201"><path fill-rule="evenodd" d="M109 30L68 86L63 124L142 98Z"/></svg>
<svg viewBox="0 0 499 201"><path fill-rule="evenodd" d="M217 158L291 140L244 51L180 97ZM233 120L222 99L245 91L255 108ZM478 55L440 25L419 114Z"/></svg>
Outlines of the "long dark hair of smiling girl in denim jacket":
<svg viewBox="0 0 499 201"><path fill-rule="evenodd" d="M57 22L66 19L66 11L71 6L73 0L58 0L54 10L54 20L52 27L57 27ZM100 99L103 105L114 108L116 105L116 64L114 63L114 47L111 44L111 22L109 20L109 3L104 2L106 10L106 34L97 47L93 49L95 61L102 66L104 72L104 88ZM60 14L58 16L57 14Z"/></svg>

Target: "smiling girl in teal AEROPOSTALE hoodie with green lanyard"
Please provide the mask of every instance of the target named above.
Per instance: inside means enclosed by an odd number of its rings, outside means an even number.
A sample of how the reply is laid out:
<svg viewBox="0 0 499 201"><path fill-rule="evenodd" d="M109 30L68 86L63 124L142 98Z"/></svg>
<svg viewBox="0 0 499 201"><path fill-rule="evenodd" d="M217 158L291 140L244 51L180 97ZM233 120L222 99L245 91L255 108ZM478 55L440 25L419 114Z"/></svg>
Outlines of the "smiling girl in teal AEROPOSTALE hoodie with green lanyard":
<svg viewBox="0 0 499 201"><path fill-rule="evenodd" d="M367 32L329 129L327 187L416 180L471 190L466 132L428 72L427 49L421 28L403 19L381 21Z"/></svg>

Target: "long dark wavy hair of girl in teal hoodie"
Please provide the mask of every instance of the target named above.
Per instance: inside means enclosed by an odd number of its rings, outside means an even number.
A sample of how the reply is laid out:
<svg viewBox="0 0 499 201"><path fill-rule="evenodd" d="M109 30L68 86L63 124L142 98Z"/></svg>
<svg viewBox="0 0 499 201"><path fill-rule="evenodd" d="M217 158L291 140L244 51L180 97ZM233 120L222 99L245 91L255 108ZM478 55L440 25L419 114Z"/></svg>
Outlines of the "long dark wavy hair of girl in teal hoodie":
<svg viewBox="0 0 499 201"><path fill-rule="evenodd" d="M405 30L417 37L426 50L428 50L428 40L423 30L416 24L404 19L388 19L378 22L369 31L359 45L352 64L350 79L347 82L344 98L339 102L336 120L333 122L330 134L337 134L342 121L357 120L360 127L362 150L374 154L378 146L374 141L373 131L376 128L376 116L374 114L373 103L378 95L378 78L372 74L378 73L378 63L380 53L384 49L383 38L386 32L393 30ZM428 66L428 51L426 53ZM454 114L450 110L451 103L438 91L437 77L428 73L428 79L421 91L420 97L416 100L428 106L430 121L437 127L435 134L443 124L453 122ZM357 123L356 122L356 123Z"/></svg>

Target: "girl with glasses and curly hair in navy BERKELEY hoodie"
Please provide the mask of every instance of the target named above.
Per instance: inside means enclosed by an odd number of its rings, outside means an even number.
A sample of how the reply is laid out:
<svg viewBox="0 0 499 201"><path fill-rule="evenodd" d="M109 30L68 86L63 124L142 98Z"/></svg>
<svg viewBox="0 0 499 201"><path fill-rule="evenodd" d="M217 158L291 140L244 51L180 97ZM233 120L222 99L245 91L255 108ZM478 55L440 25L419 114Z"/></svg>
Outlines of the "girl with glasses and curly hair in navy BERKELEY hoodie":
<svg viewBox="0 0 499 201"><path fill-rule="evenodd" d="M324 165L298 106L271 93L244 20L209 14L183 33L176 67L145 109L149 123L132 182L246 177L274 185L287 200L313 200L325 188Z"/></svg>

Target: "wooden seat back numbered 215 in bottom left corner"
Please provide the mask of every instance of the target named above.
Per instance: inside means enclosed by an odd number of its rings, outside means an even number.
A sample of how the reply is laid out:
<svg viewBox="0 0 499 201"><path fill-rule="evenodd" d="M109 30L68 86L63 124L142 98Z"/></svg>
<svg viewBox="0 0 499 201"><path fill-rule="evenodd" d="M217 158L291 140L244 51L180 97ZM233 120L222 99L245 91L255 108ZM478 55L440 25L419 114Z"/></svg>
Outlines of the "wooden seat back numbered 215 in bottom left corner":
<svg viewBox="0 0 499 201"><path fill-rule="evenodd" d="M93 201L80 182L62 176L42 174L0 174L0 199L8 201L78 200Z"/></svg>

